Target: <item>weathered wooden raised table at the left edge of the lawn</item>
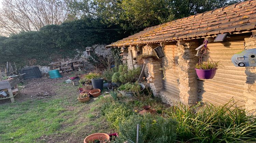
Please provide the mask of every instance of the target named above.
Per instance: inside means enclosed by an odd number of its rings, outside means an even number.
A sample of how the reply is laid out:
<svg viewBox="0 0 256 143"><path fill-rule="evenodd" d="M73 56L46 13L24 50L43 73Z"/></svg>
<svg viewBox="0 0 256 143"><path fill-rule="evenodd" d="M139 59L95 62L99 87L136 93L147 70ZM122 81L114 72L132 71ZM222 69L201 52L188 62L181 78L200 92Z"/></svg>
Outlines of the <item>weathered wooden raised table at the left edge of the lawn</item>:
<svg viewBox="0 0 256 143"><path fill-rule="evenodd" d="M19 93L17 84L18 84L18 81L17 81L16 77L10 78L8 80L0 81L0 90L7 89L9 92L9 96L0 97L0 100L10 98L11 102L14 102L14 97ZM14 89L12 90L12 88L14 88ZM15 92L15 94L13 95L14 92Z"/></svg>

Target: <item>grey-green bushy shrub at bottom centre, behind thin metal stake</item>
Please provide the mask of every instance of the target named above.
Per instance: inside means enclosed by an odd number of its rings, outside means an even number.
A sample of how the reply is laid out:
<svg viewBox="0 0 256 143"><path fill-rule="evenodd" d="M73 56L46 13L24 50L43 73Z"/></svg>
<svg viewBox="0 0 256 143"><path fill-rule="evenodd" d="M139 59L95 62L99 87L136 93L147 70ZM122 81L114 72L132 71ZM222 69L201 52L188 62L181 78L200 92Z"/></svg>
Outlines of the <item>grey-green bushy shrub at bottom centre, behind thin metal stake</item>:
<svg viewBox="0 0 256 143"><path fill-rule="evenodd" d="M176 122L172 119L151 114L131 115L120 123L120 138L136 142L137 124L139 124L139 143L174 143Z"/></svg>

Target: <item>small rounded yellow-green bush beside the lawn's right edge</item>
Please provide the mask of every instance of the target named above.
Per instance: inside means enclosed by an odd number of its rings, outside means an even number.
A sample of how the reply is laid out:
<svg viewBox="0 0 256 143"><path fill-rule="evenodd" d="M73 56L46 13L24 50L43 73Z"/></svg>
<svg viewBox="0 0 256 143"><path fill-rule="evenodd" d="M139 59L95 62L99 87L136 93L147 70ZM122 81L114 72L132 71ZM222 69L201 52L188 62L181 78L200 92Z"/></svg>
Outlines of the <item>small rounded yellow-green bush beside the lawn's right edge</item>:
<svg viewBox="0 0 256 143"><path fill-rule="evenodd" d="M125 104L119 102L106 103L102 106L102 113L105 115L106 121L109 125L119 130L119 123L125 121L125 118L132 114L132 110Z"/></svg>

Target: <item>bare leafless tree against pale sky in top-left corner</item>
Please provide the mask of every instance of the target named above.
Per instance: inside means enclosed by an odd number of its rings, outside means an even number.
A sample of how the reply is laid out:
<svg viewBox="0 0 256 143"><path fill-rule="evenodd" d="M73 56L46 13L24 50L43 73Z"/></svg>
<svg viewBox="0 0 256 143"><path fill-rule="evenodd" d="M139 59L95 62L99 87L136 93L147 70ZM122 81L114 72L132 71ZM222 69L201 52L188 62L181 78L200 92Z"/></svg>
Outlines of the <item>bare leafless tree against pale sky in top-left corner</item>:
<svg viewBox="0 0 256 143"><path fill-rule="evenodd" d="M59 25L67 18L62 0L3 0L0 29L5 35L39 30L46 25Z"/></svg>

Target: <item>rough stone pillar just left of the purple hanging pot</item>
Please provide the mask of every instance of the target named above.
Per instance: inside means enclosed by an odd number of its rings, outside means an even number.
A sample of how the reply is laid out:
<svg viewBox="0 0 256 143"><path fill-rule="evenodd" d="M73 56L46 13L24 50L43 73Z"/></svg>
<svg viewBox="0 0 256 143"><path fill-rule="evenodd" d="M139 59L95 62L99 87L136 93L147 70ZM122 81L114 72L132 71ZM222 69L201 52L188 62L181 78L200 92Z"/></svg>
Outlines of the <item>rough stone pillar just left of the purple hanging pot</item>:
<svg viewBox="0 0 256 143"><path fill-rule="evenodd" d="M195 56L199 46L196 40L178 43L178 64L180 73L180 101L183 104L195 104L197 101L197 75L195 65L198 58Z"/></svg>

